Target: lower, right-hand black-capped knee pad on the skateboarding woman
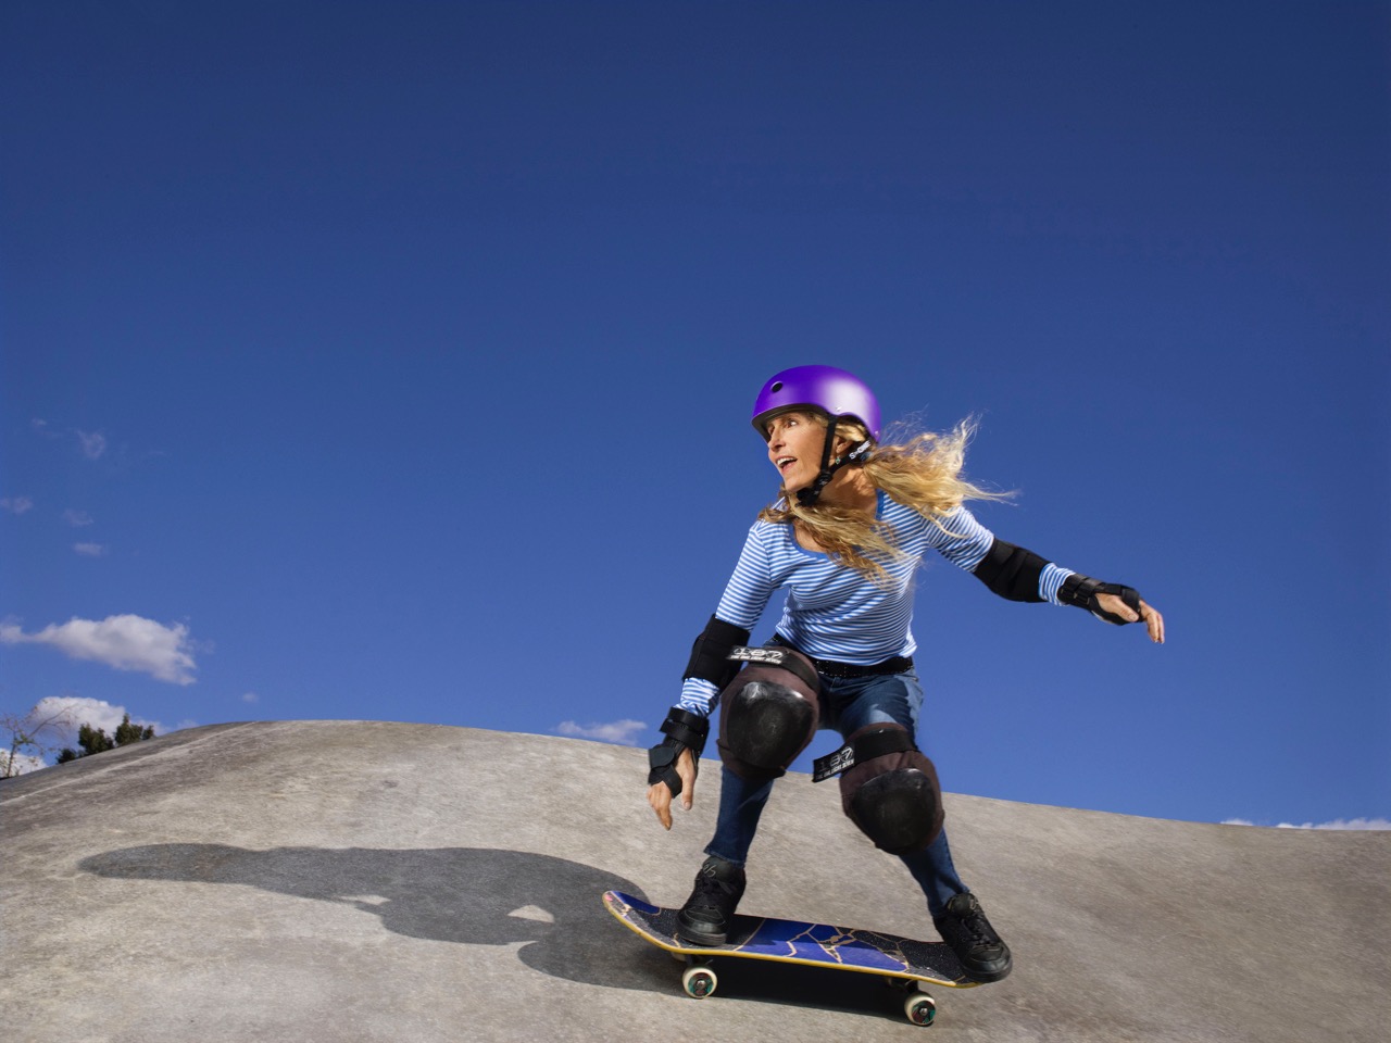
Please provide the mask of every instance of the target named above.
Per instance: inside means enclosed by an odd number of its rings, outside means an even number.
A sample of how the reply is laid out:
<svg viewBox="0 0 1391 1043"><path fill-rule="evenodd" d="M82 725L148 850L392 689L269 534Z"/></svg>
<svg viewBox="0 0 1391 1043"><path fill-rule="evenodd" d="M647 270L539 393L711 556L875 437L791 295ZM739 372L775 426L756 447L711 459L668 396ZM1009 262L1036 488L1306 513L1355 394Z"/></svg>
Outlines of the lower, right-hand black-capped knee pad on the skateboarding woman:
<svg viewBox="0 0 1391 1043"><path fill-rule="evenodd" d="M840 776L840 804L875 847L921 851L942 832L938 769L900 725L872 725L850 737L855 763ZM864 755L861 755L864 751Z"/></svg>

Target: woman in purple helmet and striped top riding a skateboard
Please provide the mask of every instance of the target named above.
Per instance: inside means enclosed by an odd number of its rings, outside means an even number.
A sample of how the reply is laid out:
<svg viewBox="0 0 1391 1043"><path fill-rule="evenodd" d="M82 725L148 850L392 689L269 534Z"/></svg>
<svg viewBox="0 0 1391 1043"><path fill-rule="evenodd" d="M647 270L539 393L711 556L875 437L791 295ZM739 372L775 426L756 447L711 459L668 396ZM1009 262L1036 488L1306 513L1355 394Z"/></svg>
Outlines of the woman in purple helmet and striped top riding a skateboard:
<svg viewBox="0 0 1391 1043"><path fill-rule="evenodd" d="M780 496L750 530L696 640L665 740L651 751L647 797L670 829L672 800L691 807L708 718L723 706L719 816L680 912L682 935L725 940L773 780L817 727L833 727L846 745L817 762L817 779L840 775L846 814L903 859L965 972L997 982L1010 972L1008 946L951 865L936 772L914 741L922 688L911 658L912 574L933 549L1013 601L1143 622L1156 642L1163 617L1132 588L1059 567L981 526L963 502L995 496L961 477L965 426L881 446L874 394L829 366L772 377L753 423L782 477ZM780 587L789 592L772 645L746 648ZM741 672L740 662L748 663Z"/></svg>

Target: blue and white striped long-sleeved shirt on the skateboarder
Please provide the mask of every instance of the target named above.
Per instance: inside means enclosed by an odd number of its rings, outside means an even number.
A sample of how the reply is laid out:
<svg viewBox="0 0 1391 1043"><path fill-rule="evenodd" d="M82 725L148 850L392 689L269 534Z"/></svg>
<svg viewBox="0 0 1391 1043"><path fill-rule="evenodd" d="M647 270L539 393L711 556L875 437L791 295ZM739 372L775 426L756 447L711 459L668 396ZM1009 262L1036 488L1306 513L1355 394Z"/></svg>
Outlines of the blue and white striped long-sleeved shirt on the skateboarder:
<svg viewBox="0 0 1391 1043"><path fill-rule="evenodd" d="M965 508L942 516L940 524L879 492L878 517L904 553L885 565L889 583L875 583L830 555L804 549L790 523L755 522L748 530L734 574L715 615L753 630L773 591L786 587L778 633L817 659L872 666L896 655L912 655L912 576L928 551L974 572L995 535ZM1054 605L1071 570L1047 565L1039 576L1039 597ZM701 677L682 686L679 705L708 715L718 688Z"/></svg>

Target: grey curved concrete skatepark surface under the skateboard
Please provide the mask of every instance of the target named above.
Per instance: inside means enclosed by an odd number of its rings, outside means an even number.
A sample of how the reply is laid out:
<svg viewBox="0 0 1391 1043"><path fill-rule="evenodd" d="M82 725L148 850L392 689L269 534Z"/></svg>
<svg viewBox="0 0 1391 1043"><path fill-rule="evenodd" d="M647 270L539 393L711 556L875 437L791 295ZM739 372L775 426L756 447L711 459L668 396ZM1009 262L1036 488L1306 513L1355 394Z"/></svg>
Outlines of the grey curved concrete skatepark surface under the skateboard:
<svg viewBox="0 0 1391 1043"><path fill-rule="evenodd" d="M0 783L3 1035L26 1043L908 1039L872 976L679 965L600 893L684 898L719 773L664 833L645 754L385 723L221 725ZM1391 834L949 795L999 985L939 1040L1385 1037ZM744 908L932 937L907 872L779 783ZM1381 1026L1380 1029L1377 1026Z"/></svg>

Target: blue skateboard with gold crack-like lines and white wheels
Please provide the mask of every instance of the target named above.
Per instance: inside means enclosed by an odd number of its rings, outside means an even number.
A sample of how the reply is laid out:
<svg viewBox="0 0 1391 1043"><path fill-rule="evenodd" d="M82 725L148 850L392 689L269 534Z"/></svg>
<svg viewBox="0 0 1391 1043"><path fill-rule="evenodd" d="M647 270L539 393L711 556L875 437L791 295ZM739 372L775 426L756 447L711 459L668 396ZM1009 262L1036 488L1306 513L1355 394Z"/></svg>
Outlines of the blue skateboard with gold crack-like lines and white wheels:
<svg viewBox="0 0 1391 1043"><path fill-rule="evenodd" d="M879 930L736 914L725 944L693 946L676 935L676 909L652 905L622 891L605 891L604 908L645 941L684 957L682 987L697 1000L711 996L719 983L711 967L715 958L771 960L879 975L904 993L903 1011L914 1025L931 1025L938 1012L936 1001L921 992L921 983L949 989L979 985L965 976L956 954L942 941L915 941Z"/></svg>

